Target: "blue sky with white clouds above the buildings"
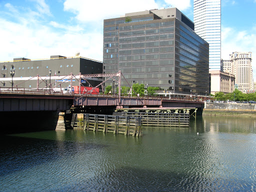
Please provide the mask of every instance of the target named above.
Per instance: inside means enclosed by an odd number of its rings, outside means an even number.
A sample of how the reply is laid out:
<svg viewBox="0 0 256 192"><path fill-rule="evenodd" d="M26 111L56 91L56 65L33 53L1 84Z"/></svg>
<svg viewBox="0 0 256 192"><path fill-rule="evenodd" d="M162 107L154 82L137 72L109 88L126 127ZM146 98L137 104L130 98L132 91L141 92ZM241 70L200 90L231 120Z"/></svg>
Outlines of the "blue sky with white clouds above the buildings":
<svg viewBox="0 0 256 192"><path fill-rule="evenodd" d="M193 21L193 0L0 0L0 61L76 52L102 61L103 19L168 7ZM234 51L252 52L256 80L256 0L221 0L221 58Z"/></svg>

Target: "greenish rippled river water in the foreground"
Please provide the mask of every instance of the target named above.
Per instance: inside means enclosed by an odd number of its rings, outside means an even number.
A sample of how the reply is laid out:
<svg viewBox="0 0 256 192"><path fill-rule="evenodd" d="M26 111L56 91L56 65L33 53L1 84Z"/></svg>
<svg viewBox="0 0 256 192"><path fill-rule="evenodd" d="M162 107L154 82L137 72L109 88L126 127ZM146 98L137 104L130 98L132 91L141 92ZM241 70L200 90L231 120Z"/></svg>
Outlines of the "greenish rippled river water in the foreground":
<svg viewBox="0 0 256 192"><path fill-rule="evenodd" d="M2 135L0 191L256 191L256 120L202 116L141 137Z"/></svg>

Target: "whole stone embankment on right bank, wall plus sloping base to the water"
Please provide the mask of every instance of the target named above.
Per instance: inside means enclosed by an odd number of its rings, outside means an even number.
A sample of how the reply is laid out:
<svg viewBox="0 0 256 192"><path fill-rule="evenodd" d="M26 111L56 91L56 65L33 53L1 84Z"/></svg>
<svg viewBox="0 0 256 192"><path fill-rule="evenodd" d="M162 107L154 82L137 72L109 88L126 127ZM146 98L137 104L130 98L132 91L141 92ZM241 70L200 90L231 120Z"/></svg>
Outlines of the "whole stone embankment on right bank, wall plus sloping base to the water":
<svg viewBox="0 0 256 192"><path fill-rule="evenodd" d="M202 115L256 117L256 104L205 102Z"/></svg>

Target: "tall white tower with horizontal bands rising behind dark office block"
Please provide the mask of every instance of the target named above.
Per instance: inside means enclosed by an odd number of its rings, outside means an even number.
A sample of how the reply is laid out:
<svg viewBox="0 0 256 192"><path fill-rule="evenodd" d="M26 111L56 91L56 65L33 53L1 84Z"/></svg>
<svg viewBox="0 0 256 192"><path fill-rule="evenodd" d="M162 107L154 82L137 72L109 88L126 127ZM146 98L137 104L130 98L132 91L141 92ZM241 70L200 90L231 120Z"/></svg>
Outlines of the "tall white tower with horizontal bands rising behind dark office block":
<svg viewBox="0 0 256 192"><path fill-rule="evenodd" d="M221 0L194 0L194 31L209 43L209 70L220 70Z"/></svg>

